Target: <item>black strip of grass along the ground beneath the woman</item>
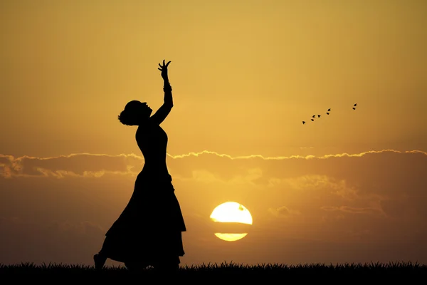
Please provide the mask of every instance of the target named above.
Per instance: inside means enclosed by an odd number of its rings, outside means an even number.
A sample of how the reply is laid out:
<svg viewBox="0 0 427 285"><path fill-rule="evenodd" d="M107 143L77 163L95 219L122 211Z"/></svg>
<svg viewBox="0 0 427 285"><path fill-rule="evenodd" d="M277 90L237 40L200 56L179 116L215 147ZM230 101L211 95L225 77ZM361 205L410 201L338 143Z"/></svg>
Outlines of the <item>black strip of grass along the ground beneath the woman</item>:
<svg viewBox="0 0 427 285"><path fill-rule="evenodd" d="M126 277L135 275L144 278L165 277L156 275L157 272L152 268L147 268L139 272L139 274L131 274L127 271L125 266L109 266L102 269L102 271L95 271L93 266L85 266L78 264L41 264L36 265L32 263L21 263L4 265L0 264L0 276L6 274L36 274L40 275L81 275L90 274L93 276L109 276L110 277ZM191 279L203 279L213 281L214 278L220 277L226 284L226 281L236 280L243 281L243 279L255 281L256 278L261 278L263 281L267 279L283 279L297 277L299 281L302 279L327 278L331 280L335 277L344 277L346 281L354 281L356 277L362 277L364 280L371 280L372 277L390 276L394 281L399 277L405 277L408 281L408 276L427 276L427 265L412 262L391 262L388 264L370 263L370 264L257 264L257 265L243 265L223 262L221 264L201 264L194 266L181 266L175 279L183 281L190 281ZM167 278L170 278L170 274ZM351 278L351 279L350 279Z"/></svg>

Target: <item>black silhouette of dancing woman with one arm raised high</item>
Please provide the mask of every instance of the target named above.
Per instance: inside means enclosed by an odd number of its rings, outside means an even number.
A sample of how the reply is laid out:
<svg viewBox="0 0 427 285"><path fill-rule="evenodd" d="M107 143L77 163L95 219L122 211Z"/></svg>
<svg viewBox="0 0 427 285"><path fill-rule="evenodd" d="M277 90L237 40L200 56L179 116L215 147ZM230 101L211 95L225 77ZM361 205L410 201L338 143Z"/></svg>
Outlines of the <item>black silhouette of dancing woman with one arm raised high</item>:
<svg viewBox="0 0 427 285"><path fill-rule="evenodd" d="M181 233L186 226L167 169L167 134L160 127L174 105L167 74L169 63L159 63L164 80L164 103L159 110L151 115L147 103L132 100L118 116L122 124L138 126L135 138L144 156L144 167L129 203L93 257L95 269L102 269L110 258L125 263L130 270L150 265L154 269L176 270L179 257L184 256Z"/></svg>

